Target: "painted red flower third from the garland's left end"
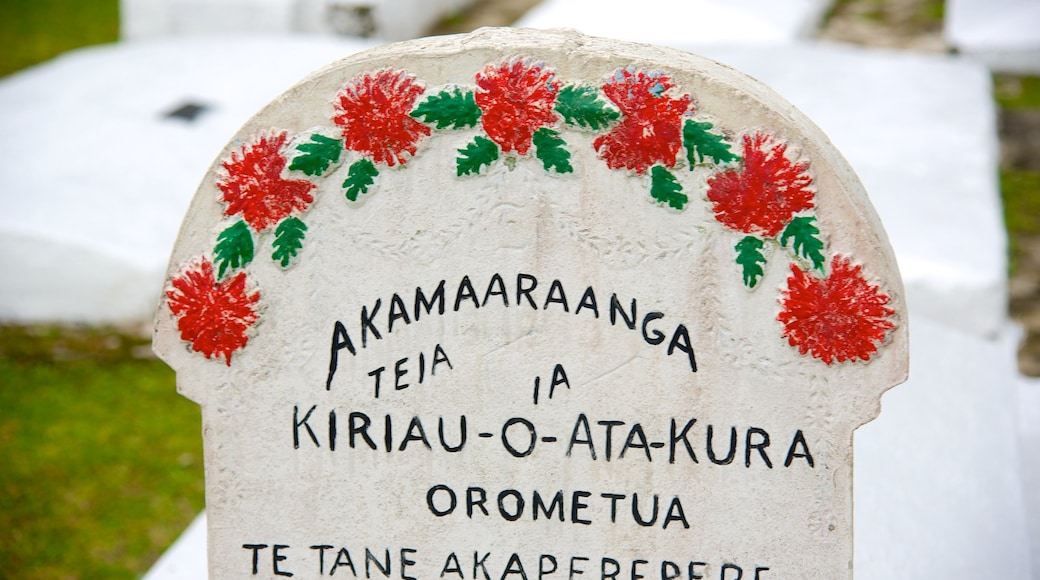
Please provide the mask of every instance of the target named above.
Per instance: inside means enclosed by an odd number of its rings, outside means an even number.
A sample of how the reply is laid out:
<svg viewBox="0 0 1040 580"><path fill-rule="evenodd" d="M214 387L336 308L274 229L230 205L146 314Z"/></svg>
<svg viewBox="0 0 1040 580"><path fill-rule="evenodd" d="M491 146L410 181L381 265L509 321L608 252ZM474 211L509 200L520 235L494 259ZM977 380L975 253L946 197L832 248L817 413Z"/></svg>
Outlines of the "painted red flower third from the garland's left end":
<svg viewBox="0 0 1040 580"><path fill-rule="evenodd" d="M430 128L409 114L422 95L415 77L389 69L355 77L336 96L332 120L343 128L346 149L391 167L415 155Z"/></svg>

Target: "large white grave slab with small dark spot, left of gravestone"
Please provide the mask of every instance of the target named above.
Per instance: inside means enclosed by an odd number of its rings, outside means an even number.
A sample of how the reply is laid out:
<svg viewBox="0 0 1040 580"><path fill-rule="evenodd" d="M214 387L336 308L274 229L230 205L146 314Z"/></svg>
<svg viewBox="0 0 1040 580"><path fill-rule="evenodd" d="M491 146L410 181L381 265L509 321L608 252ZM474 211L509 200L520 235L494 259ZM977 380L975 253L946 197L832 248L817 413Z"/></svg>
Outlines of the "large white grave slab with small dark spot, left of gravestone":
<svg viewBox="0 0 1040 580"><path fill-rule="evenodd" d="M212 151L260 106L368 43L157 41L0 82L0 319L142 323ZM192 121L171 117L203 107ZM17 192L17 194L15 194Z"/></svg>

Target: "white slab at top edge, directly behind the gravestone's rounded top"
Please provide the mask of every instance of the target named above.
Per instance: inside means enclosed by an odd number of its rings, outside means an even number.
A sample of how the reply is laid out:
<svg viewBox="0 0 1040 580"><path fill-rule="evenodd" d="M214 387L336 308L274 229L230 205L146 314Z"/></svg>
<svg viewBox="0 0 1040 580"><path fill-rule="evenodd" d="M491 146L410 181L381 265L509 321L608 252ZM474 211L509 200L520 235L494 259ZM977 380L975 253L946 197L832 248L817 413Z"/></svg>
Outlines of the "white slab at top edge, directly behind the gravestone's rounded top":
<svg viewBox="0 0 1040 580"><path fill-rule="evenodd" d="M543 0L516 26L574 28L636 43L772 46L811 34L831 0L644 0L628 9L597 0Z"/></svg>

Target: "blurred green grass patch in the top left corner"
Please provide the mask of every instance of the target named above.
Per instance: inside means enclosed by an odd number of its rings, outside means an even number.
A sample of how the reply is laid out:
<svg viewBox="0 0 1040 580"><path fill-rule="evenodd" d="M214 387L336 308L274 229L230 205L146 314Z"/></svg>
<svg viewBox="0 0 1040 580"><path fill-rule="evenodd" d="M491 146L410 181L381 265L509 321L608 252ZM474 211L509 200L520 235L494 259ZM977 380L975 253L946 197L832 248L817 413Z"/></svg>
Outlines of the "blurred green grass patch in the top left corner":
<svg viewBox="0 0 1040 580"><path fill-rule="evenodd" d="M0 76L119 38L119 0L0 0Z"/></svg>

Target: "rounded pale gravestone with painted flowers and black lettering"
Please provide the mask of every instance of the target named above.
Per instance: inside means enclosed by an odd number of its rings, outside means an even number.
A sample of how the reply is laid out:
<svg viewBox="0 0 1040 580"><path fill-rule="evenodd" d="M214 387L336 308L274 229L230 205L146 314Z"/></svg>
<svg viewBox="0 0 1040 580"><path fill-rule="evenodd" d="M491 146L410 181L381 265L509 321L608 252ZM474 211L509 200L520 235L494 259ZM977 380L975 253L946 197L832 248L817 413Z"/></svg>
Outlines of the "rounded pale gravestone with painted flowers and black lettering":
<svg viewBox="0 0 1040 580"><path fill-rule="evenodd" d="M852 170L753 79L482 30L235 135L156 349L211 578L851 578L852 437L907 372Z"/></svg>

